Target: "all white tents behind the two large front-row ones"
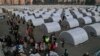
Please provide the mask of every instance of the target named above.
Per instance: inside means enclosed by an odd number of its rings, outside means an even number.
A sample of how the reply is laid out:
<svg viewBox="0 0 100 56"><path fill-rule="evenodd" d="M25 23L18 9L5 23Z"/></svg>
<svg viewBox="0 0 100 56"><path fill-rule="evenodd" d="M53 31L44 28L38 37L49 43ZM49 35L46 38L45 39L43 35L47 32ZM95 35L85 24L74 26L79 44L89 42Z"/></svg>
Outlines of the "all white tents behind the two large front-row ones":
<svg viewBox="0 0 100 56"><path fill-rule="evenodd" d="M100 11L97 7L90 8L42 8L42 9L21 9L12 10L12 15L24 18L26 22L32 21L34 26L41 26L47 33L61 30L61 25L69 28L100 22ZM62 19L64 17L64 19ZM61 25L60 22L61 21ZM49 25L49 26L48 26ZM54 27L56 26L56 27Z"/></svg>

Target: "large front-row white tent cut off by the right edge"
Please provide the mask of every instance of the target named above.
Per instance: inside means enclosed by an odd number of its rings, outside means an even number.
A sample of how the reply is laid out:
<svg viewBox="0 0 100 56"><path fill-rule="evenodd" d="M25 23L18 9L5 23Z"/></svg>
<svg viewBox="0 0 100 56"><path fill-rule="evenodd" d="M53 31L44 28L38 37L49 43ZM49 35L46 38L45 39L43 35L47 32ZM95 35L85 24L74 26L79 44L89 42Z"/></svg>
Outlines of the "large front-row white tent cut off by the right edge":
<svg viewBox="0 0 100 56"><path fill-rule="evenodd" d="M100 36L100 23L87 25L84 27L89 36Z"/></svg>

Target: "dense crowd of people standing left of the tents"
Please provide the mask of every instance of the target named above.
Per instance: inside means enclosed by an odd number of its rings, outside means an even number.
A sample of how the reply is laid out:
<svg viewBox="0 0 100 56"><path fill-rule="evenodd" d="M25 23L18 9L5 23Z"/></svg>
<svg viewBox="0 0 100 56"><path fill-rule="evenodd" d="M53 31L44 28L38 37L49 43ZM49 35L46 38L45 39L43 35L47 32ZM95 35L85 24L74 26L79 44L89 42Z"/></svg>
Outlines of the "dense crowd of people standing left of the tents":
<svg viewBox="0 0 100 56"><path fill-rule="evenodd" d="M20 24L27 25L24 36L19 33ZM51 36L43 35L42 41L35 41L33 33L35 27L31 23L11 16L8 17L7 25L9 25L9 34L0 39L5 56L32 56L32 54L46 56L50 51L58 48L55 33Z"/></svg>

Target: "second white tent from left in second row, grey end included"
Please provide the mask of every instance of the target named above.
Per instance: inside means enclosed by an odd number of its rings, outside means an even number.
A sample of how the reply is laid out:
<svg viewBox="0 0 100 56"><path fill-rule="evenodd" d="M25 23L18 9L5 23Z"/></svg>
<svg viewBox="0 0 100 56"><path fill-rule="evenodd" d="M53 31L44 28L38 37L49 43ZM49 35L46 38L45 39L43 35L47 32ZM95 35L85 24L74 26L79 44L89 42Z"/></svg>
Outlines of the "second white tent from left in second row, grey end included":
<svg viewBox="0 0 100 56"><path fill-rule="evenodd" d="M79 22L77 19L65 19L62 21L63 26L67 26L68 28L73 28L79 26Z"/></svg>

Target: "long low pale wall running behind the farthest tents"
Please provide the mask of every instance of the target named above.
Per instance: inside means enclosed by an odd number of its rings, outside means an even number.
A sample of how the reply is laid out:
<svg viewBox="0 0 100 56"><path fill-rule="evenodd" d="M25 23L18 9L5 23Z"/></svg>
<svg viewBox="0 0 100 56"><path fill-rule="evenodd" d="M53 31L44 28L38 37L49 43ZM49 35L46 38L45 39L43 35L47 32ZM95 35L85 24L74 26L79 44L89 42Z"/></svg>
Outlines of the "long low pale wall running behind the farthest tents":
<svg viewBox="0 0 100 56"><path fill-rule="evenodd" d="M12 5L12 6L0 6L0 8L14 9L14 8L30 8L30 9L40 9L40 8L66 8L66 7L95 7L86 5Z"/></svg>

